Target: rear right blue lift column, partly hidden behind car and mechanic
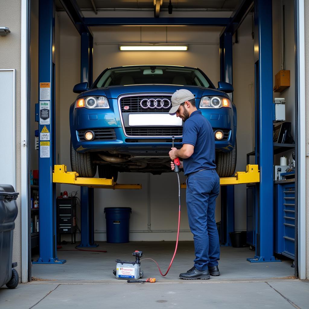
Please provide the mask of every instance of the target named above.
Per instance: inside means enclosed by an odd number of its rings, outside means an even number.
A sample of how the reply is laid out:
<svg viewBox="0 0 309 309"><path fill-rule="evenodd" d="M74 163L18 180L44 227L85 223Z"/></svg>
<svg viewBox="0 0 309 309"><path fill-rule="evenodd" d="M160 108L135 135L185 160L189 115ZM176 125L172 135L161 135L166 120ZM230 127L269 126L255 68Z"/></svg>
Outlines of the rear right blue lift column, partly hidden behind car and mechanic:
<svg viewBox="0 0 309 309"><path fill-rule="evenodd" d="M233 50L231 32L220 36L220 81L233 84ZM234 185L221 186L222 246L231 246L229 232L234 232Z"/></svg>

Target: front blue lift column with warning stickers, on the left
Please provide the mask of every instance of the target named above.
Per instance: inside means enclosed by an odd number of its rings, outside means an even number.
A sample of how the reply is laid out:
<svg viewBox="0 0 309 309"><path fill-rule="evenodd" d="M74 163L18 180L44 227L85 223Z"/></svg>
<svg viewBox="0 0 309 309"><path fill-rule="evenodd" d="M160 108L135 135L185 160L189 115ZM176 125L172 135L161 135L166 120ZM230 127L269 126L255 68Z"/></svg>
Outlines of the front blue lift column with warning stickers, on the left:
<svg viewBox="0 0 309 309"><path fill-rule="evenodd" d="M40 257L32 264L63 264L57 258L55 164L55 3L39 1L39 225ZM40 134L41 135L41 134Z"/></svg>

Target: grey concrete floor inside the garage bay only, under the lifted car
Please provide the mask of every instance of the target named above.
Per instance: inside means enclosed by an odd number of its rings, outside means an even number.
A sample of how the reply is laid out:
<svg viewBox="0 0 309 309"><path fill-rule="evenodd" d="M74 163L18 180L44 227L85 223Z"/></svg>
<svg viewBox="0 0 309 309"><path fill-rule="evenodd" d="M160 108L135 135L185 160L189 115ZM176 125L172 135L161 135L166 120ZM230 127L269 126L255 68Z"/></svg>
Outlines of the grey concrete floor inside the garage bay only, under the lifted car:
<svg viewBox="0 0 309 309"><path fill-rule="evenodd" d="M32 265L33 282L62 281L74 283L74 281L100 281L100 283L126 283L125 280L117 280L112 274L116 267L116 259L133 260L132 252L141 250L144 256L155 259L161 269L165 271L174 252L175 242L129 242L129 243L106 243L99 242L97 250L107 252L87 251L62 251L74 250L75 245L70 243L62 245L62 250L57 251L59 259L65 258L66 264L58 265ZM231 281L267 281L294 278L294 268L291 268L290 259L282 260L281 263L248 263L246 258L254 256L254 251L245 248L220 247L221 259L219 269L221 276L212 277L210 280L194 280L194 282L231 282ZM36 260L36 256L32 257ZM186 272L193 266L194 245L193 241L180 241L174 263L166 277L159 274L157 266L150 260L141 262L144 277L155 277L157 282L179 282L179 274ZM190 282L193 282L190 280Z"/></svg>

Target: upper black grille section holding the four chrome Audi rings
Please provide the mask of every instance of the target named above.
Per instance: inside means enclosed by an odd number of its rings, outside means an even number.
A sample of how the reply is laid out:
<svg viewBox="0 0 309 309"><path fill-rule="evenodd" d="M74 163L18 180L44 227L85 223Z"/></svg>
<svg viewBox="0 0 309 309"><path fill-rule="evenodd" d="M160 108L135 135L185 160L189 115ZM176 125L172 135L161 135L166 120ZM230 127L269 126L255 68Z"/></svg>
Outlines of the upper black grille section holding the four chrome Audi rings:
<svg viewBox="0 0 309 309"><path fill-rule="evenodd" d="M120 99L122 113L166 113L171 109L171 95L134 95Z"/></svg>

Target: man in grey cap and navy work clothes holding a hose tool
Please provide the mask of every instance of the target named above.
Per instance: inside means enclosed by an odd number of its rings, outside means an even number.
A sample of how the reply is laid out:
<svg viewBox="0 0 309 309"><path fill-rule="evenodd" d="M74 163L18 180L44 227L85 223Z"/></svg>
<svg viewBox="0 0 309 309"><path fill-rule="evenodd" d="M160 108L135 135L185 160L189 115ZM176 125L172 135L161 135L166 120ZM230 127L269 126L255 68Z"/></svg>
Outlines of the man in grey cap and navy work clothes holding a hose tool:
<svg viewBox="0 0 309 309"><path fill-rule="evenodd" d="M219 276L220 244L215 221L216 198L220 179L216 172L214 132L210 122L197 110L195 98L187 89L177 90L171 97L170 114L184 121L182 147L171 148L173 161L182 158L180 168L187 177L186 202L190 230L193 233L194 266L181 279L209 279ZM174 170L174 163L171 162Z"/></svg>

